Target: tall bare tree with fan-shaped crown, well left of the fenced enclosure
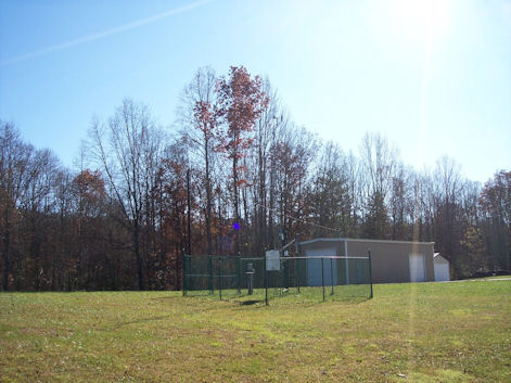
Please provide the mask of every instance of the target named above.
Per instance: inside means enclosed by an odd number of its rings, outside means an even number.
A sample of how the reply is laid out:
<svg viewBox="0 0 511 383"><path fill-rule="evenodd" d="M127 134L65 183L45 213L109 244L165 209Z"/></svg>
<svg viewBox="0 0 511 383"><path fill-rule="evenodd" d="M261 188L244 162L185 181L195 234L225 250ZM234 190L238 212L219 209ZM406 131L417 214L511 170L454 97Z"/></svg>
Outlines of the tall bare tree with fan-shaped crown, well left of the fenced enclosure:
<svg viewBox="0 0 511 383"><path fill-rule="evenodd" d="M90 130L92 154L102 168L111 192L131 233L139 289L145 288L144 254L141 233L144 202L150 180L155 179L154 164L161 151L161 131L148 106L125 99L105 125L94 120Z"/></svg>

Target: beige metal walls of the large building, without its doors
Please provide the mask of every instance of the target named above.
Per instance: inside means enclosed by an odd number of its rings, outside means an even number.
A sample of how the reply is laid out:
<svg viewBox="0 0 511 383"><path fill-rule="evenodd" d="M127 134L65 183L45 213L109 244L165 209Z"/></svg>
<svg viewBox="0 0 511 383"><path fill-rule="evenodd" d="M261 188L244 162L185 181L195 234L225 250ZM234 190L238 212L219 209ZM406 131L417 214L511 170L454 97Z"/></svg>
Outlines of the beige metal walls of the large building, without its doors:
<svg viewBox="0 0 511 383"><path fill-rule="evenodd" d="M336 250L338 256L345 255L345 242L347 254L353 257L365 257L371 251L371 271L373 283L410 282L410 254L424 255L425 280L434 281L435 271L433 264L433 242L399 242L376 240L318 240L302 244L302 254L308 248ZM352 270L349 270L352 273Z"/></svg>

